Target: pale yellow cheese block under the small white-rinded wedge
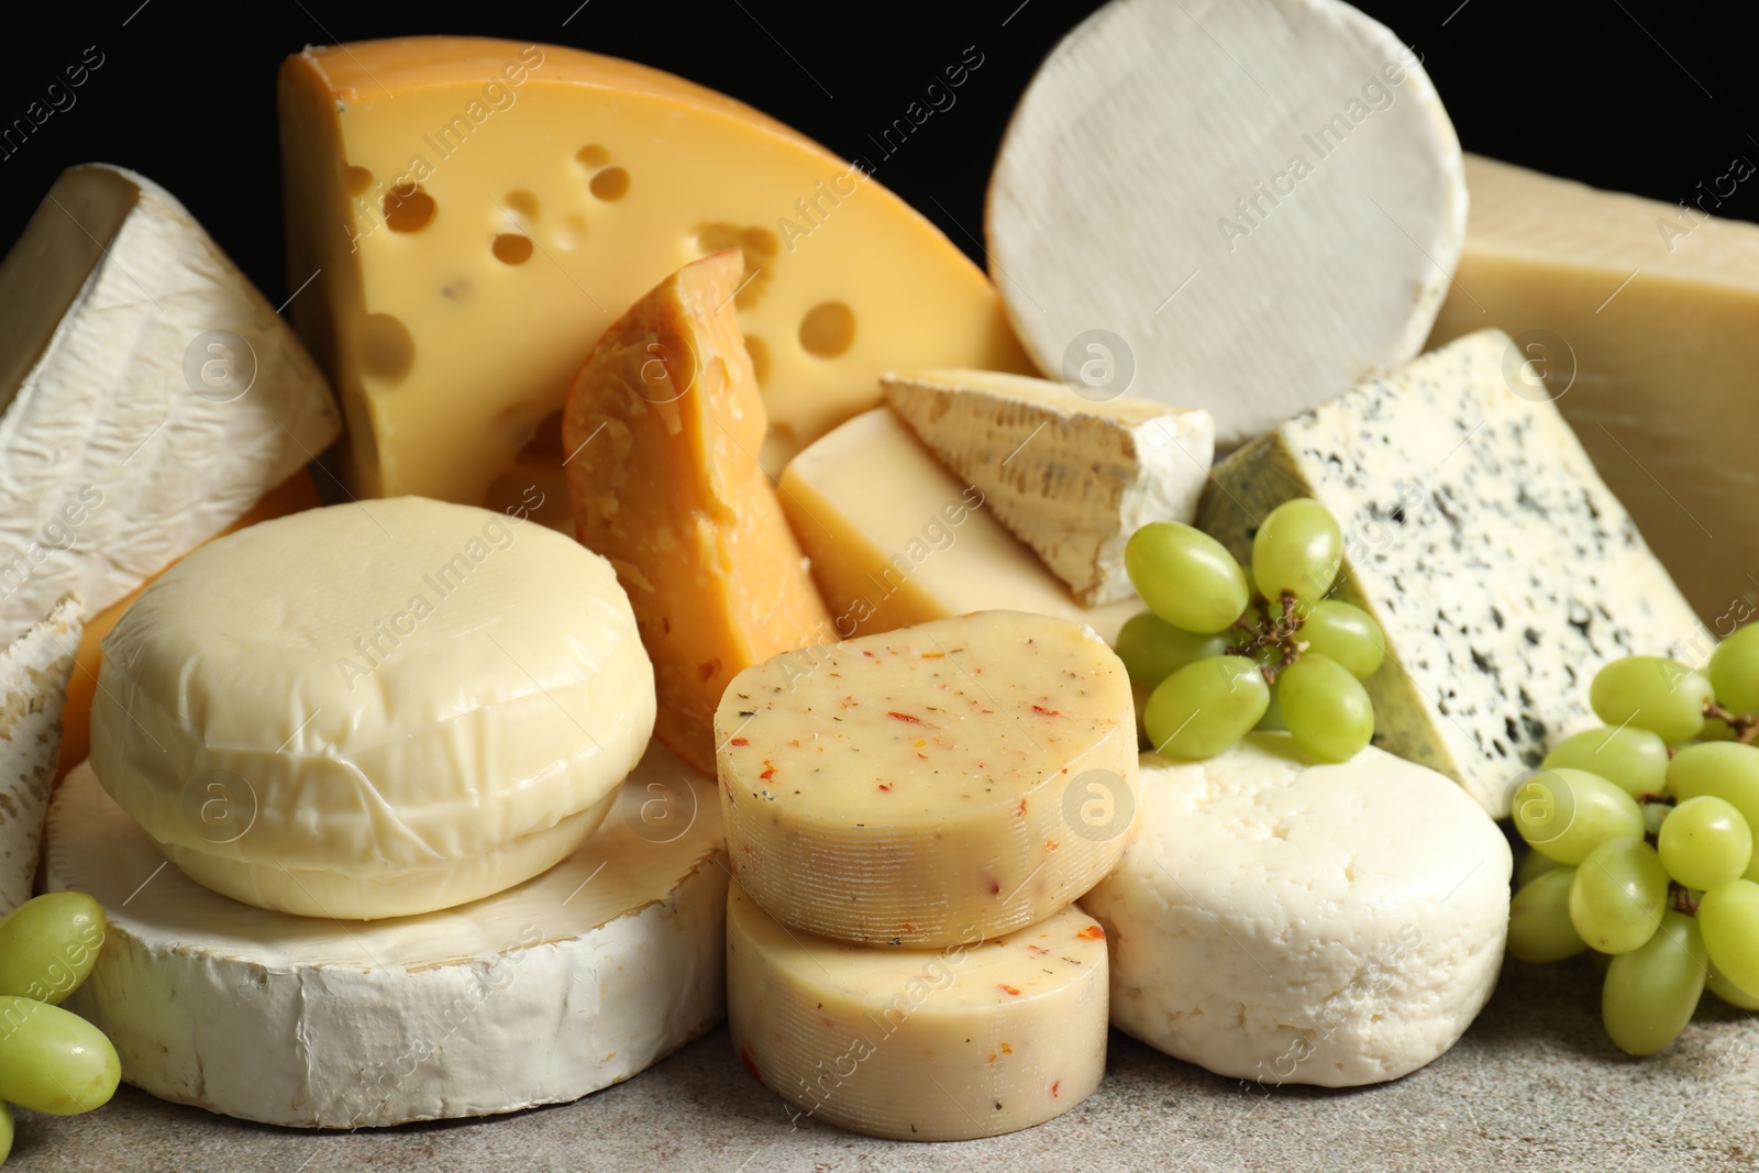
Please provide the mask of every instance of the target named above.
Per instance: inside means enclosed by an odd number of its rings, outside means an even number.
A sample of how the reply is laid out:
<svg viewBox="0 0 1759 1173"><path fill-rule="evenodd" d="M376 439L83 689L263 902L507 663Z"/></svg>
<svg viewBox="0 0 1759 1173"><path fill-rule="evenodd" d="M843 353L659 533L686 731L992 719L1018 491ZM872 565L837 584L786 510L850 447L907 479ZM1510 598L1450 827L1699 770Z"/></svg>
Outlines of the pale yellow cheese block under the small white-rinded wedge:
<svg viewBox="0 0 1759 1173"><path fill-rule="evenodd" d="M1031 610L1105 638L1140 600L1082 607L890 410L857 415L797 455L781 505L843 638L974 610Z"/></svg>

